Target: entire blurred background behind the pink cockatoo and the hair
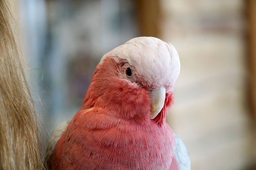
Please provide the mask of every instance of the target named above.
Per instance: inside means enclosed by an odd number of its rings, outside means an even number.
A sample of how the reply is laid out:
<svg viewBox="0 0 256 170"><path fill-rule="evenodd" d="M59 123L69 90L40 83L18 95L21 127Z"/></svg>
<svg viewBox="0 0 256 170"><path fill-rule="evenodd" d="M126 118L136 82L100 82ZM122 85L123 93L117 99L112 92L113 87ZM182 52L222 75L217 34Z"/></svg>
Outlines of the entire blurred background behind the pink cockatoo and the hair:
<svg viewBox="0 0 256 170"><path fill-rule="evenodd" d="M49 134L78 111L105 53L152 36L180 55L166 121L187 145L192 169L256 169L256 1L10 3Z"/></svg>

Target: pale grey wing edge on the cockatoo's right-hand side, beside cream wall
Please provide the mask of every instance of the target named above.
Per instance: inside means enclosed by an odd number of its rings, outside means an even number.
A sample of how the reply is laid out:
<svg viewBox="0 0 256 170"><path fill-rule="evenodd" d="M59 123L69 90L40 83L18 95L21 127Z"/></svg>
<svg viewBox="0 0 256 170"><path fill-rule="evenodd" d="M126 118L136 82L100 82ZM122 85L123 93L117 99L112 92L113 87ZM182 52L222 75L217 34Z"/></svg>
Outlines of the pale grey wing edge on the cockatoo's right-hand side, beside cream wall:
<svg viewBox="0 0 256 170"><path fill-rule="evenodd" d="M181 170L191 170L189 152L183 141L176 135L175 156L180 164Z"/></svg>

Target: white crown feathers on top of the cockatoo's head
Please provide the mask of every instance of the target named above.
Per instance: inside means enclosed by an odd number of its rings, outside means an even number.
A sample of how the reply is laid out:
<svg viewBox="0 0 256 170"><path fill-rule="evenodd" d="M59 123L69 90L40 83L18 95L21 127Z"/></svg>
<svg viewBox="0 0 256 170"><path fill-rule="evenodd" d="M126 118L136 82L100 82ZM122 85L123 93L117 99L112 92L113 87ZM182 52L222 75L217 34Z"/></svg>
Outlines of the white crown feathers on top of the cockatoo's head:
<svg viewBox="0 0 256 170"><path fill-rule="evenodd" d="M180 59L174 46L154 37L131 39L105 54L99 64L107 57L113 57L118 64L127 60L155 86L160 83L173 87L180 74Z"/></svg>

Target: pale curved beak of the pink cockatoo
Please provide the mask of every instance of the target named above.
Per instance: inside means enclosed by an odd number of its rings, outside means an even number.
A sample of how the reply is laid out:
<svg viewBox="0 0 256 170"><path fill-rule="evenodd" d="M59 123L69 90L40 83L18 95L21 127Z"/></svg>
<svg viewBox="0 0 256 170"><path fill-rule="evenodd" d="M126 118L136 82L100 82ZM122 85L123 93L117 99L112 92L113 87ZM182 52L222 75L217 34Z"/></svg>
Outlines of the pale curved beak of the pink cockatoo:
<svg viewBox="0 0 256 170"><path fill-rule="evenodd" d="M162 110L165 101L165 87L160 87L159 89L152 90L149 92L151 98L151 115L150 118L153 119Z"/></svg>

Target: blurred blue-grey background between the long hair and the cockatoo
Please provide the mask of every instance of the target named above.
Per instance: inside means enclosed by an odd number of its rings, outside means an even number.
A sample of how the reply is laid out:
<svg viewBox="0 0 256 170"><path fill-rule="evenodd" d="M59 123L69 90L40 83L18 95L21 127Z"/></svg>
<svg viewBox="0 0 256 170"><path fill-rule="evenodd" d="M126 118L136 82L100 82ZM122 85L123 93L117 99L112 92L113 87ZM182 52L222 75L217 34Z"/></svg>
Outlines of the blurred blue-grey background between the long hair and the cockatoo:
<svg viewBox="0 0 256 170"><path fill-rule="evenodd" d="M37 78L49 133L81 107L95 68L137 37L132 0L20 0L24 50ZM40 101L39 101L40 102Z"/></svg>

